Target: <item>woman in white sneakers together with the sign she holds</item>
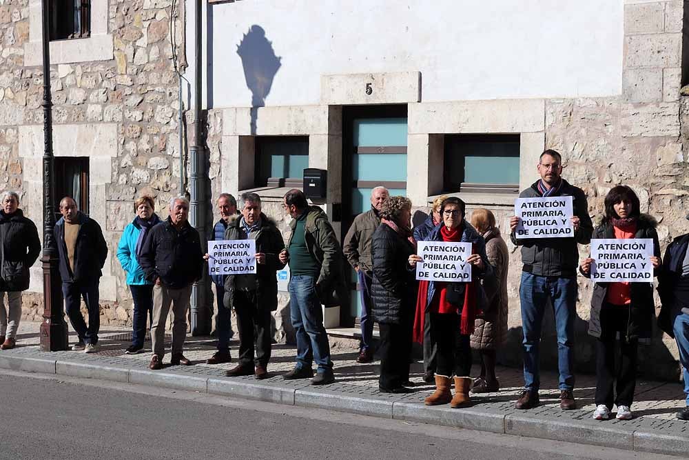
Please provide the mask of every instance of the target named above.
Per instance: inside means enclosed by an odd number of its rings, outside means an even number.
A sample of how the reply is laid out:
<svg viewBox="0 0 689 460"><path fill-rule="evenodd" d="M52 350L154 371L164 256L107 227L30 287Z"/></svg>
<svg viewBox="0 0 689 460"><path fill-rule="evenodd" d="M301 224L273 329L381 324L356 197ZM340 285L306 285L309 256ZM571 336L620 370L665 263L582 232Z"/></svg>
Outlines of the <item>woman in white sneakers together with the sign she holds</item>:
<svg viewBox="0 0 689 460"><path fill-rule="evenodd" d="M613 187L605 197L605 210L593 232L591 257L580 268L596 282L588 321L588 333L598 339L593 418L609 419L614 403L616 418L628 420L633 417L637 348L652 332L653 277L660 266L660 245L655 219L640 214L639 198L631 188Z"/></svg>

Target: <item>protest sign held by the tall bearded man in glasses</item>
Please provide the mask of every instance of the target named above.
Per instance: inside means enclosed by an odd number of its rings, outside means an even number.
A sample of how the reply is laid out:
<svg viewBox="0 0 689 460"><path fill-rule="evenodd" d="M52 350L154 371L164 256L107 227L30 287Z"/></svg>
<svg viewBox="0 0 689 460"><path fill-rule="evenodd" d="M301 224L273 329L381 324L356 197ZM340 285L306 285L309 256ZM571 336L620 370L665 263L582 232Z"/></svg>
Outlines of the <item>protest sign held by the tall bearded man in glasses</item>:
<svg viewBox="0 0 689 460"><path fill-rule="evenodd" d="M573 237L574 226L570 219L573 215L572 197L517 198L515 216L521 219L515 237Z"/></svg>

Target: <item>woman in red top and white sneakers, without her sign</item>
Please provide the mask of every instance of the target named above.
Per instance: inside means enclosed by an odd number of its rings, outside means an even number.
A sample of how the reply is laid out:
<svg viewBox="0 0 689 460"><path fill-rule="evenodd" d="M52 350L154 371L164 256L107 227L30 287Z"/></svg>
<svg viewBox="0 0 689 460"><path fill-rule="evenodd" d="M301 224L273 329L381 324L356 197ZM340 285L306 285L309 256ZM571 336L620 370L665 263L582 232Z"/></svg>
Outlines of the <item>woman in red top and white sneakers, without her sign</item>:
<svg viewBox="0 0 689 460"><path fill-rule="evenodd" d="M649 257L649 261L654 268L659 268L657 222L647 214L641 214L639 197L634 190L627 186L613 187L604 203L605 215L593 230L592 238L652 239L654 255ZM589 257L579 267L586 277L590 277L591 263L593 259ZM588 334L598 339L594 419L609 419L613 403L617 405L617 419L633 417L631 406L637 383L637 348L639 340L650 339L654 314L652 282L595 283L588 322ZM618 366L615 365L617 337L620 349ZM617 390L617 395L613 390Z"/></svg>

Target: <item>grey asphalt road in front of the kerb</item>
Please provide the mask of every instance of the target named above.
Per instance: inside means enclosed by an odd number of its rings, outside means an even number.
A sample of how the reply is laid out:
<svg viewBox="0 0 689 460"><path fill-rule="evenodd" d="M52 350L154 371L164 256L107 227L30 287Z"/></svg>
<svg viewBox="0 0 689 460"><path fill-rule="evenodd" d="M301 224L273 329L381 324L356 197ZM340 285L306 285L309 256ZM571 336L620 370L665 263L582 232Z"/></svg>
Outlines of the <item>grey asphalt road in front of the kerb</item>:
<svg viewBox="0 0 689 460"><path fill-rule="evenodd" d="M676 457L0 371L0 459L555 458Z"/></svg>

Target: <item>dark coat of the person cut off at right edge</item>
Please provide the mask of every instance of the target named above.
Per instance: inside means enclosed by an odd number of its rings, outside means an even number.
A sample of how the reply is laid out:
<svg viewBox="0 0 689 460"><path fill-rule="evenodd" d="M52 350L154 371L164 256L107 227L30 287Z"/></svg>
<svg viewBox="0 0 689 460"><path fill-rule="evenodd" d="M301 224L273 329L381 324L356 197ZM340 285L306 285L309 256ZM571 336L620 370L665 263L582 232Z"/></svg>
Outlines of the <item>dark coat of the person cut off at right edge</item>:
<svg viewBox="0 0 689 460"><path fill-rule="evenodd" d="M681 312L681 305L677 303L675 298L675 286L682 276L682 264L688 247L689 233L672 240L672 243L665 250L663 266L658 274L658 294L662 304L658 314L658 327L673 339L675 338L675 330L672 328L672 324L675 322L677 314Z"/></svg>

